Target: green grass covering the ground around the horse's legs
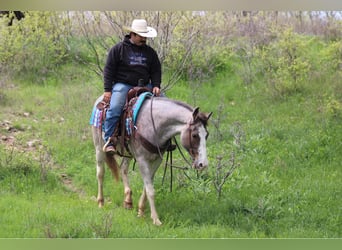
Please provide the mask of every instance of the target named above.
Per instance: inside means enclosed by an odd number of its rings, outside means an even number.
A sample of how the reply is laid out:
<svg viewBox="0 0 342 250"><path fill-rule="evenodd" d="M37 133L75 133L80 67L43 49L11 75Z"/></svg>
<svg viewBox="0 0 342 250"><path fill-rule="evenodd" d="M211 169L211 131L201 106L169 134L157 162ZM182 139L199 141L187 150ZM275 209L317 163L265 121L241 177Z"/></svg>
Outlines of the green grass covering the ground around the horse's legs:
<svg viewBox="0 0 342 250"><path fill-rule="evenodd" d="M13 145L0 145L1 238L342 236L342 117L328 109L329 97L341 97L338 83L321 86L322 93L316 91L322 83L313 82L315 91L282 99L269 96L265 84L243 85L236 76L211 79L196 91L196 85L177 84L170 98L214 112L210 167L200 175L186 171L189 178L175 170L173 192L170 176L162 184L159 169L156 203L163 226L155 227L149 209L146 218L137 218L136 209L122 207L122 185L110 174L107 203L97 207L88 121L101 82L82 68L66 66L61 72L43 84L15 83L2 91L0 121L10 121L16 132L0 127L2 136L15 136ZM234 144L237 129L240 145ZM218 199L213 184L218 156L228 168L231 152L240 167ZM174 161L185 164L177 153ZM136 205L142 183L136 169L130 172Z"/></svg>

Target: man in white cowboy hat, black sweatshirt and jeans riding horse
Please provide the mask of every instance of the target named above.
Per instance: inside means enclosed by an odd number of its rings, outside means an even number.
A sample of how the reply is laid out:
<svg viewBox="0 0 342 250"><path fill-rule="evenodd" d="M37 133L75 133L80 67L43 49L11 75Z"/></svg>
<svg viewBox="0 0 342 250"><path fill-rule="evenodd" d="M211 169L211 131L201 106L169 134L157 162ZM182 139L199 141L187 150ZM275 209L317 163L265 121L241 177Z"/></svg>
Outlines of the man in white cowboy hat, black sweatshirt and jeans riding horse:
<svg viewBox="0 0 342 250"><path fill-rule="evenodd" d="M144 19L135 19L131 27L125 27L129 34L114 45L108 53L104 67L105 103L110 107L104 122L106 153L114 153L115 148L108 142L120 119L127 92L138 85L151 88L154 95L160 95L161 64L156 51L146 45L146 38L156 37L157 31L147 26Z"/></svg>

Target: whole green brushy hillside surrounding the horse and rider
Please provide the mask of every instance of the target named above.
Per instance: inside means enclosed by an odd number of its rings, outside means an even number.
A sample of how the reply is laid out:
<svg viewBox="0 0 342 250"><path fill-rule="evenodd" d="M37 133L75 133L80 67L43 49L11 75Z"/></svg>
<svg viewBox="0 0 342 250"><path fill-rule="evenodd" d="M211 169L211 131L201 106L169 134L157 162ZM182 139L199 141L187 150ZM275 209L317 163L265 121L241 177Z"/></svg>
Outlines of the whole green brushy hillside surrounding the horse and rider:
<svg viewBox="0 0 342 250"><path fill-rule="evenodd" d="M109 171L105 206L96 203L89 118L117 39L108 22L96 25L130 13L94 13L93 23L67 14L0 26L0 238L342 237L341 22L322 30L314 13L146 13L173 21L160 27L170 40L151 41L167 97L213 112L208 169L174 168L170 192L170 171L159 168L155 227L136 216L133 164L134 208L122 207Z"/></svg>

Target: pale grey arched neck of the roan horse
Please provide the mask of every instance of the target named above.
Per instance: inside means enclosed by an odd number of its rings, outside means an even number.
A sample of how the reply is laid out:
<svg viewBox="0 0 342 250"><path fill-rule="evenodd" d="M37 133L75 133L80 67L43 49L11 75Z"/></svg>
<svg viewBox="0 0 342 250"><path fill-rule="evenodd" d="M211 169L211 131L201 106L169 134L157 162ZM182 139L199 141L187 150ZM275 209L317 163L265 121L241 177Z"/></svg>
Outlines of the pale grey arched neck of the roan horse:
<svg viewBox="0 0 342 250"><path fill-rule="evenodd" d="M159 143L165 142L181 133L184 126L191 120L192 108L187 104L165 98L155 98L152 102L152 116L151 101L147 102L147 105L144 106L144 116L149 123L149 131L152 131L150 132L151 135L148 136L150 140L158 138ZM157 136L155 136L156 134Z"/></svg>

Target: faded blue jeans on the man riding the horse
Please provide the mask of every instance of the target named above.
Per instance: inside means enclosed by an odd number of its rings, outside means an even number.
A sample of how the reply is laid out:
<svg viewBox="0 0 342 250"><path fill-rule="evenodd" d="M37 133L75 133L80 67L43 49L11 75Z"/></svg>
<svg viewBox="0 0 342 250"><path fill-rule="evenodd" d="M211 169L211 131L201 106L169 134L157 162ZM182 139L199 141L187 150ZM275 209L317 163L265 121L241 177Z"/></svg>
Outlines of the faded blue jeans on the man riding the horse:
<svg viewBox="0 0 342 250"><path fill-rule="evenodd" d="M146 87L151 88L152 85L148 84ZM124 83L115 83L113 86L110 106L107 110L106 120L104 123L105 143L114 133L114 129L120 119L122 110L126 103L127 93L131 88L133 88L133 86Z"/></svg>

